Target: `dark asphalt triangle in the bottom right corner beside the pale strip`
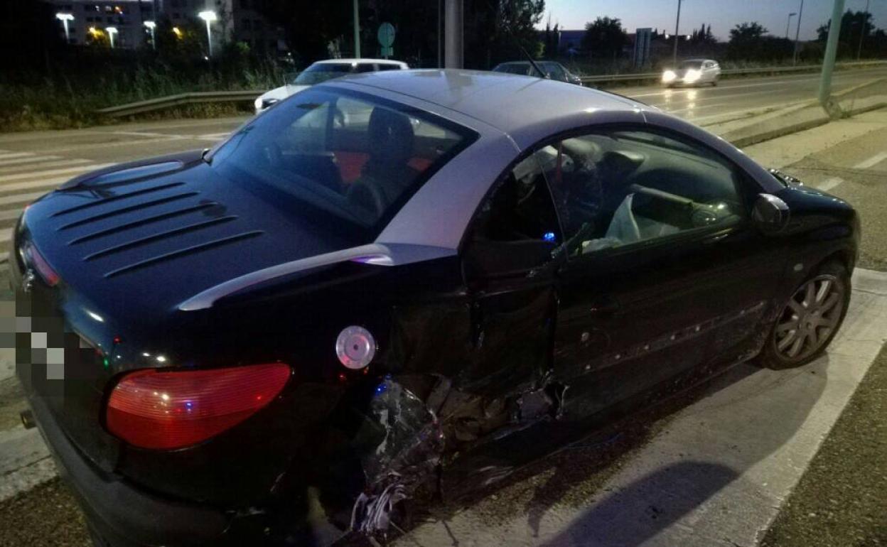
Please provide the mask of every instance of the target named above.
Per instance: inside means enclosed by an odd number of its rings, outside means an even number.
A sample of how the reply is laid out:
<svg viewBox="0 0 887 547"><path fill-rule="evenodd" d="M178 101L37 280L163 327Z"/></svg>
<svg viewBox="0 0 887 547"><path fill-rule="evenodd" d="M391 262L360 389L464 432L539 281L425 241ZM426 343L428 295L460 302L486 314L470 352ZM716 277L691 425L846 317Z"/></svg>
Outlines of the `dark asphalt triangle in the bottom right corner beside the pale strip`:
<svg viewBox="0 0 887 547"><path fill-rule="evenodd" d="M761 542L761 547L845 545L887 545L887 348Z"/></svg>

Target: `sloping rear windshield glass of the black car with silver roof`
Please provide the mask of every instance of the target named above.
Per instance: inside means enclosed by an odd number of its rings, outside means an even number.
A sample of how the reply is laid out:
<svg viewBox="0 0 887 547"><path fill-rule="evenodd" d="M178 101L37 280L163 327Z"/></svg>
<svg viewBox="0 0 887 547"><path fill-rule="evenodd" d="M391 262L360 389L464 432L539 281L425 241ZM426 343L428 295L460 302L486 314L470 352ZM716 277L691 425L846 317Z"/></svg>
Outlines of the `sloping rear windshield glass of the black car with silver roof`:
<svg viewBox="0 0 887 547"><path fill-rule="evenodd" d="M208 160L225 178L297 214L310 210L359 244L475 137L430 113L318 87L256 117Z"/></svg>

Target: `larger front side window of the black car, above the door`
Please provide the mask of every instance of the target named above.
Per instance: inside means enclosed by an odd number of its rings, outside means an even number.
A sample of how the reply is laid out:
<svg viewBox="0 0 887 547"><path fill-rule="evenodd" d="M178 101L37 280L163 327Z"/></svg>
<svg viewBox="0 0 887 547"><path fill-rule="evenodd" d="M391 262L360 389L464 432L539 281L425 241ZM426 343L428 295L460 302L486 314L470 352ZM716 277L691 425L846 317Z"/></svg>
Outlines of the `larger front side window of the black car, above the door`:
<svg viewBox="0 0 887 547"><path fill-rule="evenodd" d="M701 145L615 130L537 152L569 256L742 222L741 176Z"/></svg>

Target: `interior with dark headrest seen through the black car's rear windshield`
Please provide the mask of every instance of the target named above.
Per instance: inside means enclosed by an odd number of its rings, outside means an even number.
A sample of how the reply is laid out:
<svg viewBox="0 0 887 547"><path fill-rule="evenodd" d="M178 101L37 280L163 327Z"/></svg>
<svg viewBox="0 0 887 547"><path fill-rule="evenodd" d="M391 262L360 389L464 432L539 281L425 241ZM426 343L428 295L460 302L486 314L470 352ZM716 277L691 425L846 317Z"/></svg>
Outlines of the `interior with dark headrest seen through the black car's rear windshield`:
<svg viewBox="0 0 887 547"><path fill-rule="evenodd" d="M366 227L402 205L421 175L464 140L451 129L387 106L326 98L286 105L294 115L279 109L284 122L256 147L261 152L252 167L261 171L263 182ZM249 148L242 146L240 155L252 155Z"/></svg>

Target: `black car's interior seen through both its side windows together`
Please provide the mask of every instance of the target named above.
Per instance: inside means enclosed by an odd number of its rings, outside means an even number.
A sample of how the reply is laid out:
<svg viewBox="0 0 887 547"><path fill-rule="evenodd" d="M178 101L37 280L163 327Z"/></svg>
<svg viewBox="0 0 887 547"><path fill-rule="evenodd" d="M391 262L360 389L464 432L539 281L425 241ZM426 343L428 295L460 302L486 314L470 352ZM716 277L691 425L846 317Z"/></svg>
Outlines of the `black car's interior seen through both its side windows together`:
<svg viewBox="0 0 887 547"><path fill-rule="evenodd" d="M556 241L575 256L726 227L745 215L737 173L653 133L569 138L515 166L478 214L475 240Z"/></svg>

